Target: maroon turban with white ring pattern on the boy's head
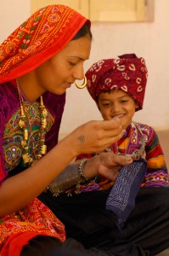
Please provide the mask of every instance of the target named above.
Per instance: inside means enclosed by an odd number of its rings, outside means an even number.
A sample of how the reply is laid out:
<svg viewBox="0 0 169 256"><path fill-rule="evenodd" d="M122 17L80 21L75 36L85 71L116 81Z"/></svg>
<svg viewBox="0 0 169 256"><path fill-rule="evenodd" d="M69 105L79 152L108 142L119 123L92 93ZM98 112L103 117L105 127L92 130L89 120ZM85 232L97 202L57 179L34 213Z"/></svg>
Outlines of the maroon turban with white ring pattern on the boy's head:
<svg viewBox="0 0 169 256"><path fill-rule="evenodd" d="M101 60L93 64L85 74L87 90L98 102L101 92L123 90L143 108L148 71L144 58L135 54L121 55L117 59Z"/></svg>

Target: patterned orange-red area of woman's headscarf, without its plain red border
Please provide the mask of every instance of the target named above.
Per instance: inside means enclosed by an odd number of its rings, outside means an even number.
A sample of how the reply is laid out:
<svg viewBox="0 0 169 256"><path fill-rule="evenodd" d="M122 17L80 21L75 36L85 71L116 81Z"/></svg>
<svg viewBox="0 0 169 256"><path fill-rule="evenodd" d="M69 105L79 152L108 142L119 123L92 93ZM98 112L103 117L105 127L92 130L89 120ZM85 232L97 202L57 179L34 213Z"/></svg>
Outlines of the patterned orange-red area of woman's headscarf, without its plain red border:
<svg viewBox="0 0 169 256"><path fill-rule="evenodd" d="M0 46L0 73L8 73L31 55L48 49L61 35L74 12L64 5L51 5L31 15Z"/></svg>

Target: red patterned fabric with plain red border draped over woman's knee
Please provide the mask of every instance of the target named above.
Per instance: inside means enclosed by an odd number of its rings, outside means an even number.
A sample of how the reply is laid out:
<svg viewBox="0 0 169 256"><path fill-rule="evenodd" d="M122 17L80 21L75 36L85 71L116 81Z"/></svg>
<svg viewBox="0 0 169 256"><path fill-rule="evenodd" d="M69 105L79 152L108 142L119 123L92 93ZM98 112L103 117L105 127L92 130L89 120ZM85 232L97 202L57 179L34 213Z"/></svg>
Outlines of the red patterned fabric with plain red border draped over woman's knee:
<svg viewBox="0 0 169 256"><path fill-rule="evenodd" d="M0 255L18 255L14 252L18 250L19 253L31 238L38 235L65 241L65 226L47 206L34 199L20 211L0 218Z"/></svg>

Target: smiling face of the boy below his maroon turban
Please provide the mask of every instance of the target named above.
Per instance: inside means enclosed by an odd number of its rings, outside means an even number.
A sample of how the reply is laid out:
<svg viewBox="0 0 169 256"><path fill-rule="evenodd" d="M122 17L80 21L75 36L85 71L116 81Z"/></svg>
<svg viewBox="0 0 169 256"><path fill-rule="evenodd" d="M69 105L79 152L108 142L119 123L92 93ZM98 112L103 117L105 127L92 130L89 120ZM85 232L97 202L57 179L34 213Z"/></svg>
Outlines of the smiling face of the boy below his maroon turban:
<svg viewBox="0 0 169 256"><path fill-rule="evenodd" d="M98 107L104 120L118 116L121 119L123 129L132 123L132 116L138 108L132 97L122 90L102 92L99 94Z"/></svg>

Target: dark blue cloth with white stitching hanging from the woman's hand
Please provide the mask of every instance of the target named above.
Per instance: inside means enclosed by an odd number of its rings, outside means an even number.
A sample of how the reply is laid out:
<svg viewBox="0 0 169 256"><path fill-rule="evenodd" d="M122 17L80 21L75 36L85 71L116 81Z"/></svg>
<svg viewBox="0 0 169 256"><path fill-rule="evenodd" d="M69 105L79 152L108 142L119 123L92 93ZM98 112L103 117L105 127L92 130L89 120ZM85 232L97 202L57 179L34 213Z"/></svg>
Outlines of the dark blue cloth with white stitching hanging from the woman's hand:
<svg viewBox="0 0 169 256"><path fill-rule="evenodd" d="M115 213L117 225L122 228L127 217L135 207L135 197L140 184L144 181L147 161L134 160L131 165L123 166L106 201L106 209Z"/></svg>

